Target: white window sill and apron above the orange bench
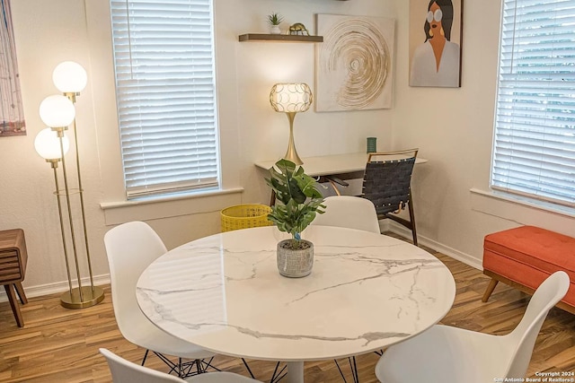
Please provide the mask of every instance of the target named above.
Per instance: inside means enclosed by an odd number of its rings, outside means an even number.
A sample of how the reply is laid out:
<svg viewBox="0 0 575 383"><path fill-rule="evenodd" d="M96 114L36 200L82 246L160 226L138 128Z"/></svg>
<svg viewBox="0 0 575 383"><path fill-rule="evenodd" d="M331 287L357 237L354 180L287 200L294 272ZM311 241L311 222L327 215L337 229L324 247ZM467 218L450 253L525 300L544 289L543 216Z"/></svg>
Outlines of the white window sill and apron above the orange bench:
<svg viewBox="0 0 575 383"><path fill-rule="evenodd" d="M538 222L549 222L553 226L562 227L562 224L573 224L575 209L534 201L522 196L511 196L493 190L470 189L472 194L472 209L487 213L519 224L537 225ZM550 215L553 222L549 221ZM556 218L556 220L555 220ZM550 230L553 230L550 228ZM559 230L559 231L564 231Z"/></svg>

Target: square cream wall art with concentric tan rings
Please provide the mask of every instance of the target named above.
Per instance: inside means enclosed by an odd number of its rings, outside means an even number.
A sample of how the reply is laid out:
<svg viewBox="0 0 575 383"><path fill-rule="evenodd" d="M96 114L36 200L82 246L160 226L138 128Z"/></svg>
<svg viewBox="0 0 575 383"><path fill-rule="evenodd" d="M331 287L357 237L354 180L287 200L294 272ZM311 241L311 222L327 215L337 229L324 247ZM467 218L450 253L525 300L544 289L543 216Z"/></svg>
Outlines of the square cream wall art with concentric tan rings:
<svg viewBox="0 0 575 383"><path fill-rule="evenodd" d="M317 15L316 111L392 105L394 19Z"/></svg>

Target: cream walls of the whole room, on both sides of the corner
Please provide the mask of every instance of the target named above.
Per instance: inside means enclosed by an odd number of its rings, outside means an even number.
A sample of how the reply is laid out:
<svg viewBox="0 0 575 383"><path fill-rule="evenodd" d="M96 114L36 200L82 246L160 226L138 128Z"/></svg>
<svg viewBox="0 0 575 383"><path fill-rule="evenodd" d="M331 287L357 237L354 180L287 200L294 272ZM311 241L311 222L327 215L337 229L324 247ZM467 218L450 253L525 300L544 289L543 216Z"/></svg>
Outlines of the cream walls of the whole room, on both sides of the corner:
<svg viewBox="0 0 575 383"><path fill-rule="evenodd" d="M43 127L40 101L57 93L51 83L61 61L84 65L90 77L76 103L86 215L95 275L108 274L102 244L111 225L146 220L168 248L219 230L227 205L268 201L254 161L283 155L288 120L268 103L273 83L314 84L314 44L237 41L265 32L265 15L304 22L314 32L315 13L380 15L396 22L394 107L386 110L316 113L296 117L301 156L359 152L366 137L378 149L420 147L429 163L418 165L414 187L420 240L481 265L482 238L520 223L535 223L575 236L573 218L501 203L470 193L488 190L500 0L464 3L463 87L408 86L407 0L215 0L221 154L227 194L122 205L111 64L110 20L104 0L13 0L14 35L28 135L0 138L3 196L0 229L26 233L30 261L24 286L31 293L66 289L66 273L49 165L34 152ZM312 88L314 89L314 87ZM243 189L243 193L238 190ZM102 210L101 204L110 208ZM114 207L115 206L115 207Z"/></svg>

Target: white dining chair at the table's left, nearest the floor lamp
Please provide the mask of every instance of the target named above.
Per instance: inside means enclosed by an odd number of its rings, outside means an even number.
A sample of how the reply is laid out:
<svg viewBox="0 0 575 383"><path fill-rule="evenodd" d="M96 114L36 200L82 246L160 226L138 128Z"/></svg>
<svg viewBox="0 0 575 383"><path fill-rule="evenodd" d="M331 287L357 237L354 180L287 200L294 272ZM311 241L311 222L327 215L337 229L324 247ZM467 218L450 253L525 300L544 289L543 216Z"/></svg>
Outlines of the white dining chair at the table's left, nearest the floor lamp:
<svg viewBox="0 0 575 383"><path fill-rule="evenodd" d="M104 235L104 245L119 332L132 344L146 348L142 366L152 351L181 378L204 372L215 354L165 333L150 322L137 305L137 279L148 265L167 251L162 239L147 223L128 222L108 231ZM174 363L166 355L173 355L178 361Z"/></svg>

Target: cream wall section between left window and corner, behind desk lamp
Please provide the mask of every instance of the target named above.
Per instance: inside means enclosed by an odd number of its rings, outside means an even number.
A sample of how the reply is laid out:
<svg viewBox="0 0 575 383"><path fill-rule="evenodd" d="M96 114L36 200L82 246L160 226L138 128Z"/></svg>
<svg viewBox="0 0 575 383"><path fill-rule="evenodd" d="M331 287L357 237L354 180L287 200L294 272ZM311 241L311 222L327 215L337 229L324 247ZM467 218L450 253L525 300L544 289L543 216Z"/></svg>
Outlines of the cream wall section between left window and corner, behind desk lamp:
<svg viewBox="0 0 575 383"><path fill-rule="evenodd" d="M241 149L243 199L266 203L270 192L261 182L262 173L254 171L253 162L282 156L288 146L289 133L286 115L270 107L270 89L274 83L282 82L305 82L314 89L316 47L306 43L238 43L237 36L247 32L266 33L265 15L271 12L285 16L282 28L303 22L314 34L316 13L376 14L394 18L395 7L387 0L231 0L216 4L218 43L229 43L226 60L236 66L237 82L222 86L237 92L240 132L237 145ZM218 60L221 64L219 56ZM391 147L393 109L335 113L316 113L313 109L298 113L294 122L296 148L301 157L365 151L367 136L378 137L380 149Z"/></svg>

